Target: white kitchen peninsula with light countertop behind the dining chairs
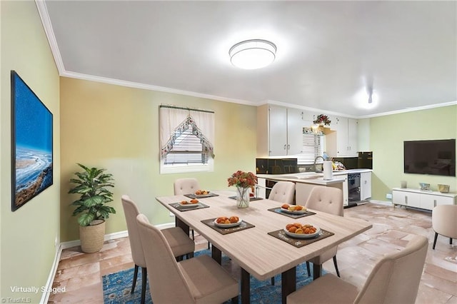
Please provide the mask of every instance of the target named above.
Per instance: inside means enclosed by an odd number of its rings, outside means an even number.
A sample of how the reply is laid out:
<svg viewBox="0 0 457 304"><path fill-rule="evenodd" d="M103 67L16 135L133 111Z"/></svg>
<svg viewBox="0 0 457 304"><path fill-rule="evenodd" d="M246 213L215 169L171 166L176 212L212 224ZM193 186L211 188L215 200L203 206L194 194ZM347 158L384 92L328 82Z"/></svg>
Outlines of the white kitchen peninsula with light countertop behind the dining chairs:
<svg viewBox="0 0 457 304"><path fill-rule="evenodd" d="M348 206L348 174L361 173L369 175L368 181L364 181L366 187L369 187L369 195L371 196L371 169L351 169L333 171L333 178L331 180L323 179L323 173L318 172L303 172L303 173L290 173L290 174L257 174L258 185L261 186L259 196L265 197L265 188L269 188L268 181L291 181L295 183L296 203L304 205L308 200L309 193L314 187L336 187L343 191L343 206ZM366 191L365 191L366 192Z"/></svg>

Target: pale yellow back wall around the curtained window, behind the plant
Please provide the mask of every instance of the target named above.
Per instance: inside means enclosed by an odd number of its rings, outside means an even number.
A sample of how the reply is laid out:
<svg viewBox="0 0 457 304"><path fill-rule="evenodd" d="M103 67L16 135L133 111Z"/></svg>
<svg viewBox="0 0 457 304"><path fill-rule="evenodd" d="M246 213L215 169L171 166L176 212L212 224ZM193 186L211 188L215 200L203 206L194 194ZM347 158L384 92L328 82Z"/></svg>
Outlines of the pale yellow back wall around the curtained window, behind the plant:
<svg viewBox="0 0 457 304"><path fill-rule="evenodd" d="M214 172L159 174L159 104L215 111ZM61 78L61 239L79 239L69 178L76 163L114 174L117 213L106 221L106 233L126 230L121 195L127 194L154 224L174 222L154 199L173 194L176 178L195 176L202 188L228 188L238 169L253 171L256 161L256 107L146 91L93 81Z"/></svg>

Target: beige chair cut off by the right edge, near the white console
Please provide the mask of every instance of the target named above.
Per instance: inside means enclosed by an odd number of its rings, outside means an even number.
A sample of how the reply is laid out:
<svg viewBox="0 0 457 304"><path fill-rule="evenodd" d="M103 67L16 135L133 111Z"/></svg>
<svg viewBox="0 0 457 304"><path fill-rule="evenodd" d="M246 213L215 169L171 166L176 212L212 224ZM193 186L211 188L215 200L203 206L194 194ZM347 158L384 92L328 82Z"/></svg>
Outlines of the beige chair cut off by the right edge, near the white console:
<svg viewBox="0 0 457 304"><path fill-rule="evenodd" d="M449 238L449 244L452 245L452 239L457 238L457 205L439 205L433 208L431 224L435 230L433 249L435 249L438 234Z"/></svg>

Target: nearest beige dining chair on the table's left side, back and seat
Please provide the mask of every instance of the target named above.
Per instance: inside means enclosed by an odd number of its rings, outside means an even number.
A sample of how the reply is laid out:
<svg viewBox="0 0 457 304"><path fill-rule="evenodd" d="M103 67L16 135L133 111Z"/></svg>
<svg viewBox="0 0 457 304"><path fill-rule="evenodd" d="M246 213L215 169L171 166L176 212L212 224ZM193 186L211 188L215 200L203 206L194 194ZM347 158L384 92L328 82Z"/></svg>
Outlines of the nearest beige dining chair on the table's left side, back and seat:
<svg viewBox="0 0 457 304"><path fill-rule="evenodd" d="M238 282L209 255L177 262L161 230L136 217L154 303L238 303Z"/></svg>

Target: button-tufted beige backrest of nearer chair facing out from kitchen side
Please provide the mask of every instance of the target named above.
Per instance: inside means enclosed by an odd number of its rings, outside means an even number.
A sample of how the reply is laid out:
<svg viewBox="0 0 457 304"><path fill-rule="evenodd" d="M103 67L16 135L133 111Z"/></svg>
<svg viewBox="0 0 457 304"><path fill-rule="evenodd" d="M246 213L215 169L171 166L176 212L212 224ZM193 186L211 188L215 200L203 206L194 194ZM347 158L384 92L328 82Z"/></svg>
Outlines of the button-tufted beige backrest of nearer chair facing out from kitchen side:
<svg viewBox="0 0 457 304"><path fill-rule="evenodd" d="M334 187L316 186L311 189L305 207L343 216L343 191Z"/></svg>

